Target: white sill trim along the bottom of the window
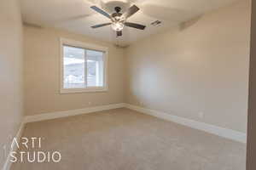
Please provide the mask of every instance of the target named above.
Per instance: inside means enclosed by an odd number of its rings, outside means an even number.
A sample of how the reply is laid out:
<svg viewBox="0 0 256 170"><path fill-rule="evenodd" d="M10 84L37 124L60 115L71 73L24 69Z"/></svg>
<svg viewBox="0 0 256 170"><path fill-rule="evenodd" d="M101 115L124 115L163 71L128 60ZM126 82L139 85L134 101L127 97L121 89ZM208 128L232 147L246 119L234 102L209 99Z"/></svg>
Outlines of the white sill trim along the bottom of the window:
<svg viewBox="0 0 256 170"><path fill-rule="evenodd" d="M61 94L85 94L85 93L101 93L108 92L108 88L63 88Z"/></svg>

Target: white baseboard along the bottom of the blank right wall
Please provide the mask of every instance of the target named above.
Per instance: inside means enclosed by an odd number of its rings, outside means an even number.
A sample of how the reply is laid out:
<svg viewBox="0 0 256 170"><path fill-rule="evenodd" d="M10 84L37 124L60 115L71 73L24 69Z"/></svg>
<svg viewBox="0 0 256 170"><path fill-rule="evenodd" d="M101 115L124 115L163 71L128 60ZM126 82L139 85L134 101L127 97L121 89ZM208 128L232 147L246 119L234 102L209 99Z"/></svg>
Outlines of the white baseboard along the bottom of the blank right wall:
<svg viewBox="0 0 256 170"><path fill-rule="evenodd" d="M145 109L143 107L138 107L136 105L125 104L125 107L128 109L134 110L134 111L143 112L143 113L151 115L151 116L156 116L161 119L165 119L167 121L177 122L184 126L202 130L207 133L216 134L216 135L226 138L226 139L232 139L232 140L236 140L241 143L247 143L247 134L246 133L241 133L241 132L238 132L238 131L235 131L232 129L228 129L228 128L224 128L224 127L214 126L211 124L207 124L205 122L196 122L194 120L190 120L190 119L183 118L180 116L173 116L171 114L164 113L161 111Z"/></svg>

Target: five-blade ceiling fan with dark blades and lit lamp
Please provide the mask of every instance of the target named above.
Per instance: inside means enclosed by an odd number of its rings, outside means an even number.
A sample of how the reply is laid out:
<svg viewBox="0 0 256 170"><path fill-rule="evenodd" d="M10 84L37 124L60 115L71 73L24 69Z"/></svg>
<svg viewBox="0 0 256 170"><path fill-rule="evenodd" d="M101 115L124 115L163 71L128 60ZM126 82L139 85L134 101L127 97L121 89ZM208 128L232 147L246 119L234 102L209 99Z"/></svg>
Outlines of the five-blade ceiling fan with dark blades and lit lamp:
<svg viewBox="0 0 256 170"><path fill-rule="evenodd" d="M99 28L102 26L110 26L111 25L113 28L113 31L117 32L117 37L122 36L122 34L123 34L122 30L124 29L125 26L129 26L129 27L136 28L139 30L144 30L146 28L146 26L143 26L140 24L126 22L126 20L129 17L131 17L131 15L137 13L137 11L139 10L139 8L136 5L133 5L130 8L128 8L128 10L125 12L125 14L120 13L122 8L115 7L114 10L116 12L111 15L96 6L92 6L90 8L94 9L97 13L103 14L104 16L108 17L108 19L110 19L112 21L109 23L91 26L91 28Z"/></svg>

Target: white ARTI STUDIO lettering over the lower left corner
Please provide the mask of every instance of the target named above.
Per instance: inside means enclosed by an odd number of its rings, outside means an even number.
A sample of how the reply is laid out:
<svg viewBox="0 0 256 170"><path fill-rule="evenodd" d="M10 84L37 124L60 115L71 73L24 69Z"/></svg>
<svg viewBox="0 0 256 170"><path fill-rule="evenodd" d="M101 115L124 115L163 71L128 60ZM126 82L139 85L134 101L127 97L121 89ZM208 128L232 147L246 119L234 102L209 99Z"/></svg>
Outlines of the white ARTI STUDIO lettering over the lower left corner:
<svg viewBox="0 0 256 170"><path fill-rule="evenodd" d="M11 144L11 148L20 149L20 147L26 148L26 150L34 149L40 150L42 147L42 138L20 138L20 144L15 138ZM11 162L60 162L61 153L59 151L11 151Z"/></svg>

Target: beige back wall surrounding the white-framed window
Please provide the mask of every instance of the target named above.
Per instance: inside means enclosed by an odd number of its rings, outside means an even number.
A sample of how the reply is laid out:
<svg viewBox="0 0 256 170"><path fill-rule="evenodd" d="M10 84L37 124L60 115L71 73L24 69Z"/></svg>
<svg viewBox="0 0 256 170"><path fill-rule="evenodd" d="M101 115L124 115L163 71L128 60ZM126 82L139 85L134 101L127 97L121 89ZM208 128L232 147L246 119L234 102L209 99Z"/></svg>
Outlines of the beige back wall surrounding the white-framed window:
<svg viewBox="0 0 256 170"><path fill-rule="evenodd" d="M108 92L60 94L60 37L108 47ZM26 115L124 102L122 48L67 31L31 26L25 26L24 40Z"/></svg>

